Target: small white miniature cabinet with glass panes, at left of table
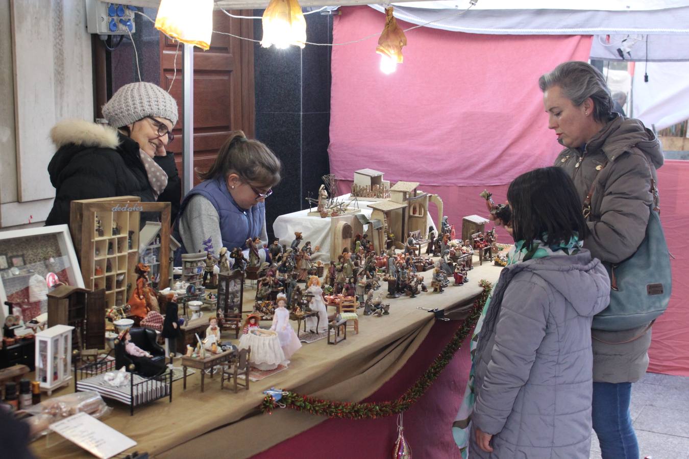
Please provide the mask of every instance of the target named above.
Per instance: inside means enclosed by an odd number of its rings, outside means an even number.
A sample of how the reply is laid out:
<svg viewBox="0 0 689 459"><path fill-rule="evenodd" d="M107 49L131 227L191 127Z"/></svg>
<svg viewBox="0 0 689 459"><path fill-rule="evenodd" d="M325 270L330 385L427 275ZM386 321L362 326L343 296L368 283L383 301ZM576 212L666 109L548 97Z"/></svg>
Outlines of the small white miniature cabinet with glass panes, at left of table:
<svg viewBox="0 0 689 459"><path fill-rule="evenodd" d="M48 395L72 379L72 330L54 325L36 334L36 377Z"/></svg>

